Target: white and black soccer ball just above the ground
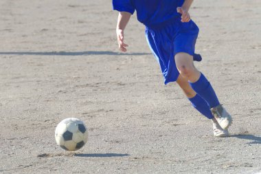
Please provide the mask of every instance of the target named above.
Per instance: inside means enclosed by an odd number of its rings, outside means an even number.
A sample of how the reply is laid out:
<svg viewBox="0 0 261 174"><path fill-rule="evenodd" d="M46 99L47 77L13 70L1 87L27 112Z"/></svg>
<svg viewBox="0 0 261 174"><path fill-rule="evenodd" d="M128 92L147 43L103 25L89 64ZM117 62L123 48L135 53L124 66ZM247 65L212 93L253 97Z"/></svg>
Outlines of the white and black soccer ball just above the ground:
<svg viewBox="0 0 261 174"><path fill-rule="evenodd" d="M77 151L87 142L88 131L78 118L66 118L56 127L55 140L66 151Z"/></svg>

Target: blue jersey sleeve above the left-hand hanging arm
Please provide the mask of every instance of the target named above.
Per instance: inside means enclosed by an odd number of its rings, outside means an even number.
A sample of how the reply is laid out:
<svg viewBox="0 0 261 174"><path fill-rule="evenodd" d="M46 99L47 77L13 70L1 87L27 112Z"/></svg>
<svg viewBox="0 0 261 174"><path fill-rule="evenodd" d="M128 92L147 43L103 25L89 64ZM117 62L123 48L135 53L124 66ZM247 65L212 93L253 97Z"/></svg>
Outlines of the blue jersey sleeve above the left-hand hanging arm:
<svg viewBox="0 0 261 174"><path fill-rule="evenodd" d="M119 12L130 12L131 14L135 12L135 8L130 0L113 0L113 10Z"/></svg>

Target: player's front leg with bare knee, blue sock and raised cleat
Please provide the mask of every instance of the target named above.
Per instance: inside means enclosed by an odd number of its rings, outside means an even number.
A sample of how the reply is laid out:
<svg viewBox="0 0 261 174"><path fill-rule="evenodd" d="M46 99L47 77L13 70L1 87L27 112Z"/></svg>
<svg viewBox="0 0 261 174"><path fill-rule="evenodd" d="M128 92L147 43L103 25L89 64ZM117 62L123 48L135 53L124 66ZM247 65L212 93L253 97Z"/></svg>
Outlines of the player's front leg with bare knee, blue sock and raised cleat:
<svg viewBox="0 0 261 174"><path fill-rule="evenodd" d="M231 124L231 116L220 105L216 93L207 78L194 67L192 56L185 52L179 52L175 55L174 60L181 76L188 80L196 94L207 102L220 127L227 129Z"/></svg>

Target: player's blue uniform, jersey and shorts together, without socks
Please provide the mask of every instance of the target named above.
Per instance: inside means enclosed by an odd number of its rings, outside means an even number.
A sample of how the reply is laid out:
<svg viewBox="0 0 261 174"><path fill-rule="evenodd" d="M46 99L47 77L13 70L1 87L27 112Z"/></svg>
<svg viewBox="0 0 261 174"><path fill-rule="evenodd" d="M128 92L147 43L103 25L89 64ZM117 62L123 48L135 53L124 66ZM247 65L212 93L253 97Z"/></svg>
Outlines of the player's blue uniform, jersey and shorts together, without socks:
<svg viewBox="0 0 261 174"><path fill-rule="evenodd" d="M113 0L113 10L130 12L136 10L137 19L146 25L146 39L150 50L157 59L165 84L179 77L174 56L179 52L199 56L194 53L198 27L190 20L181 22L177 8L185 0Z"/></svg>

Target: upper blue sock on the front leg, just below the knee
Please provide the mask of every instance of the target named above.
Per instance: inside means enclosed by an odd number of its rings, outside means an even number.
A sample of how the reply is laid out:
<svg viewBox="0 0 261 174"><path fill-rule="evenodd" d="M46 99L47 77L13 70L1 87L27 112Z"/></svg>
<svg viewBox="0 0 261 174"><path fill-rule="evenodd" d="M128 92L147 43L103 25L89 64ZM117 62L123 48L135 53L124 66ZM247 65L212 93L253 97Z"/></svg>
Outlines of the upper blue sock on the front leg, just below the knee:
<svg viewBox="0 0 261 174"><path fill-rule="evenodd" d="M207 105L209 105L210 108L220 105L212 85L210 85L209 81L202 73L195 83L190 83L190 86L196 91L196 94L206 100Z"/></svg>

